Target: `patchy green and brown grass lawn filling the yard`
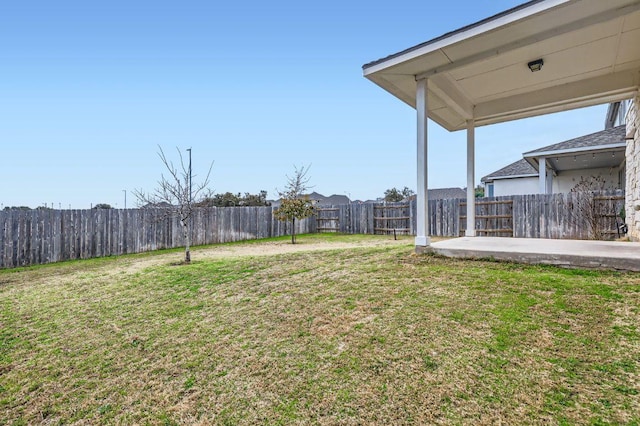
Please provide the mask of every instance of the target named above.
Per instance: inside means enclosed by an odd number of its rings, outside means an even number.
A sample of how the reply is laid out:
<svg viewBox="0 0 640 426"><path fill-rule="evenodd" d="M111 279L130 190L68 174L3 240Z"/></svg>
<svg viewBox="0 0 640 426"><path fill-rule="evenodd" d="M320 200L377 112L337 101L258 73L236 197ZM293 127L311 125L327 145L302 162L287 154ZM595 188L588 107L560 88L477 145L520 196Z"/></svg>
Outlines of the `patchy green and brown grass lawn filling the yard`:
<svg viewBox="0 0 640 426"><path fill-rule="evenodd" d="M640 424L640 275L300 242L0 271L0 424Z"/></svg>

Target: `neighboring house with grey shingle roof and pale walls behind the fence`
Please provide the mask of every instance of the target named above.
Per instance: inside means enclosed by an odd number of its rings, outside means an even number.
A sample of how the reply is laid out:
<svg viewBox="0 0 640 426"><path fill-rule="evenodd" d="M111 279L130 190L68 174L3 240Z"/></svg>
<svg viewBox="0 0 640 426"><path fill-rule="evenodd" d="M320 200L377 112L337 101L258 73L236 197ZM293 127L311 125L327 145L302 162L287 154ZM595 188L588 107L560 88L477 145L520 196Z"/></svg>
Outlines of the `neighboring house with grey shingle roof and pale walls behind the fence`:
<svg viewBox="0 0 640 426"><path fill-rule="evenodd" d="M624 189L625 132L621 125L525 152L521 160L482 178L485 194L564 193L591 176L603 178L604 189Z"/></svg>

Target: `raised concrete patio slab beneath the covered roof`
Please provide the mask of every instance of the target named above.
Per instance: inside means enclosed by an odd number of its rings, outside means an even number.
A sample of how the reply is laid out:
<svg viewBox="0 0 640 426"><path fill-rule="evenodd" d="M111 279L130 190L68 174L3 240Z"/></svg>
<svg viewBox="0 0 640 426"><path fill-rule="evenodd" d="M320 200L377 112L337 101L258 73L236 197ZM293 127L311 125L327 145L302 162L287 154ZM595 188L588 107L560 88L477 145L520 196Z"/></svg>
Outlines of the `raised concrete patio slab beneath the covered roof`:
<svg viewBox="0 0 640 426"><path fill-rule="evenodd" d="M462 237L433 243L431 250L465 259L640 272L640 243L631 242Z"/></svg>

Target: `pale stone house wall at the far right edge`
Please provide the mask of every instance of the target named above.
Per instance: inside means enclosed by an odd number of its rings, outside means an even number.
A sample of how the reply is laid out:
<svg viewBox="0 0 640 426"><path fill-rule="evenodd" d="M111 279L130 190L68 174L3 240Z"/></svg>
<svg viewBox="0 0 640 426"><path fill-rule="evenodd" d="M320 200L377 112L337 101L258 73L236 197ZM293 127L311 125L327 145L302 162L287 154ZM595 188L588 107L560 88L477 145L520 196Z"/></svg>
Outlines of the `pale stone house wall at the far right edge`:
<svg viewBox="0 0 640 426"><path fill-rule="evenodd" d="M627 184L625 212L629 237L640 241L640 95L636 95L627 113Z"/></svg>

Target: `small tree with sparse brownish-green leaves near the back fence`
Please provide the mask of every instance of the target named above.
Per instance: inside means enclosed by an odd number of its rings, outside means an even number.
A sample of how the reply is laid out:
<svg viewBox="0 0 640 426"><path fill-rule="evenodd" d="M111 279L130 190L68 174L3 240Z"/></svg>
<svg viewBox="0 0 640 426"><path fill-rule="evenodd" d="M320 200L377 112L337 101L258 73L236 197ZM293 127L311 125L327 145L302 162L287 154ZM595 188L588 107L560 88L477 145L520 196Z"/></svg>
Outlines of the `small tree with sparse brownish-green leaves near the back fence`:
<svg viewBox="0 0 640 426"><path fill-rule="evenodd" d="M304 194L310 188L308 185L311 178L307 177L307 173L311 166L293 167L294 174L287 175L285 189L278 190L280 207L275 211L278 220L291 223L291 244L296 243L296 219L304 219L315 212L309 196Z"/></svg>

